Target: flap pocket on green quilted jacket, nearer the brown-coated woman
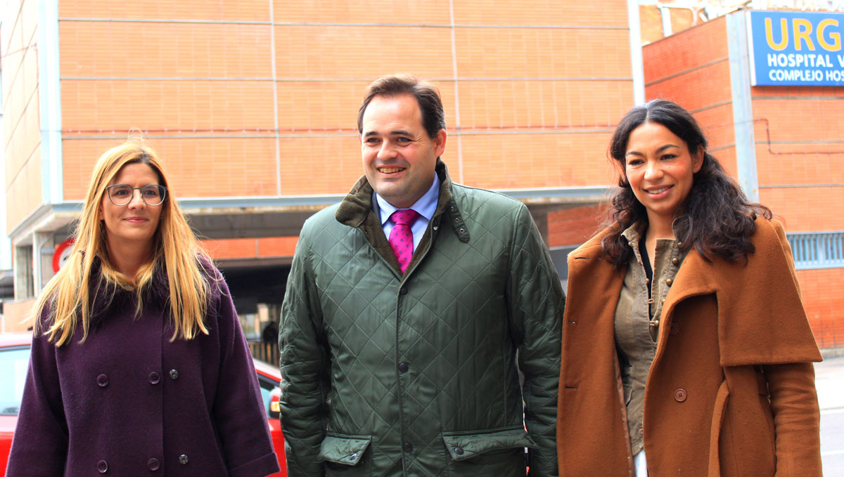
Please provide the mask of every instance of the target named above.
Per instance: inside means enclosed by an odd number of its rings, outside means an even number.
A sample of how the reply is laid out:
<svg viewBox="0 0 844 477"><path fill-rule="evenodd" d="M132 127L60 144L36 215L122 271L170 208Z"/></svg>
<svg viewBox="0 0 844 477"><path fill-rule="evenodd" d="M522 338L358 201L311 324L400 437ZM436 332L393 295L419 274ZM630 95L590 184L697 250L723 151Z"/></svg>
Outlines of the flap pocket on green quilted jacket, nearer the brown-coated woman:
<svg viewBox="0 0 844 477"><path fill-rule="evenodd" d="M518 458L523 461L524 448L536 445L522 426L443 432L442 440L452 460L466 464L495 464Z"/></svg>

